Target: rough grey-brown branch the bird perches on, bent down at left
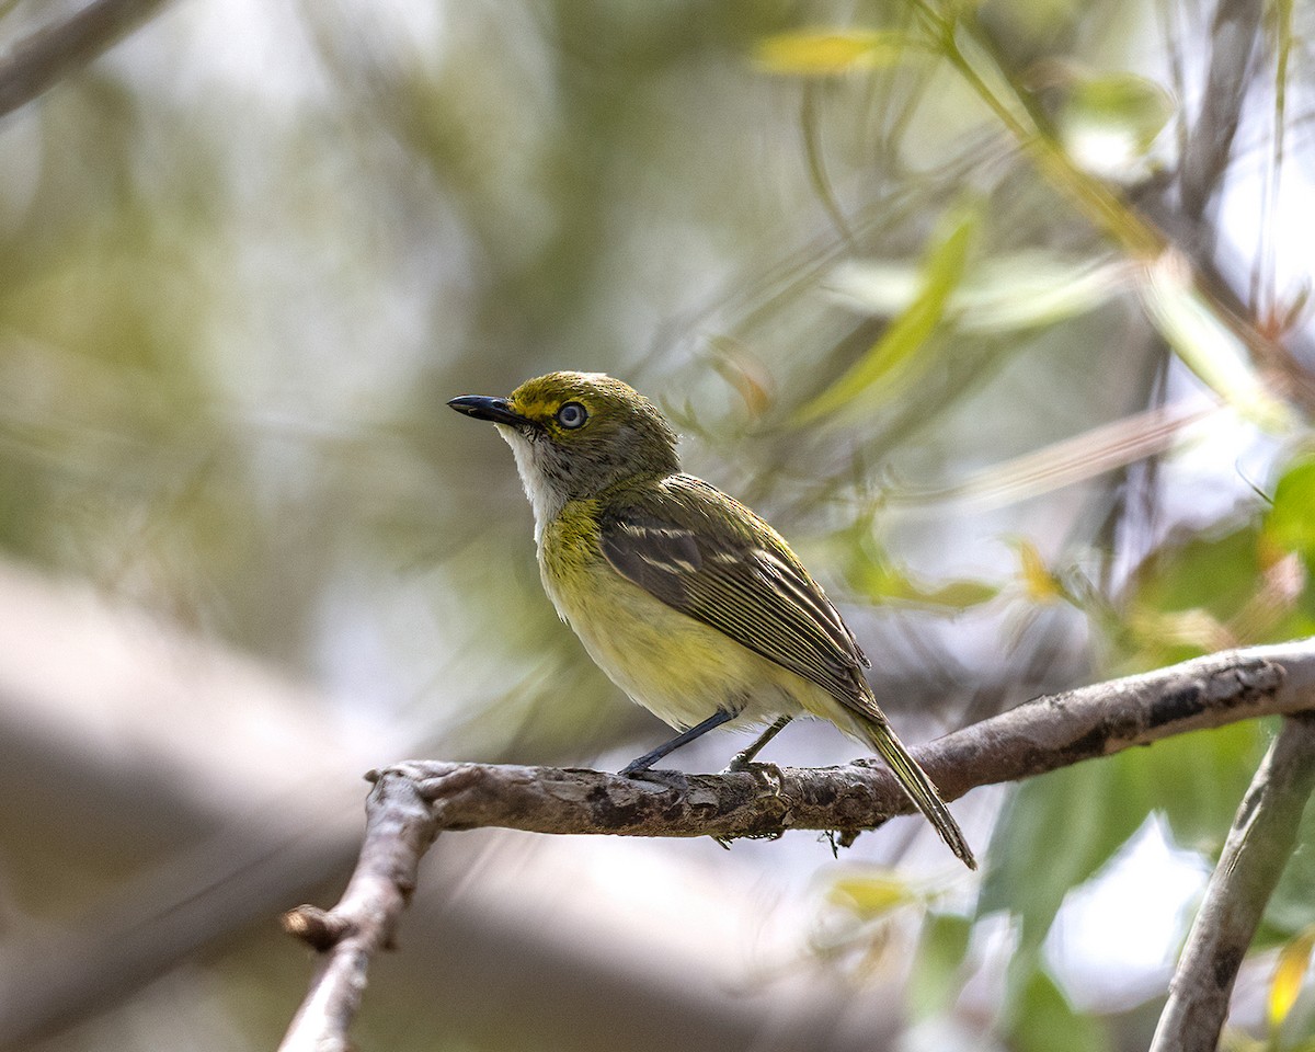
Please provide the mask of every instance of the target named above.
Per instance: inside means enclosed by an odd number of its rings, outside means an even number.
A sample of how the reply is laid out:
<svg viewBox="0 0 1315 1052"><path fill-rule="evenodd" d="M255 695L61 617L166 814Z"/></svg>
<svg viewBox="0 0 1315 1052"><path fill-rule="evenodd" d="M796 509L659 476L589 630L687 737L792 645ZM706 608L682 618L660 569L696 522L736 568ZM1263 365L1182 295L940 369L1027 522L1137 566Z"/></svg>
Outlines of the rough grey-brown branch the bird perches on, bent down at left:
<svg viewBox="0 0 1315 1052"><path fill-rule="evenodd" d="M1230 651L1036 698L914 750L948 800L1132 746L1315 709L1315 638ZM327 952L281 1052L350 1047L370 957L392 939L419 857L444 830L504 827L631 836L776 836L880 826L913 807L885 768L851 764L643 778L597 771L412 761L375 775L366 843L342 902L287 928ZM422 805L423 810L419 806ZM392 881L389 884L389 881Z"/></svg>

